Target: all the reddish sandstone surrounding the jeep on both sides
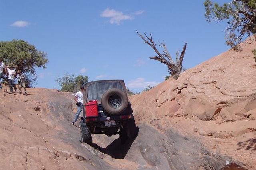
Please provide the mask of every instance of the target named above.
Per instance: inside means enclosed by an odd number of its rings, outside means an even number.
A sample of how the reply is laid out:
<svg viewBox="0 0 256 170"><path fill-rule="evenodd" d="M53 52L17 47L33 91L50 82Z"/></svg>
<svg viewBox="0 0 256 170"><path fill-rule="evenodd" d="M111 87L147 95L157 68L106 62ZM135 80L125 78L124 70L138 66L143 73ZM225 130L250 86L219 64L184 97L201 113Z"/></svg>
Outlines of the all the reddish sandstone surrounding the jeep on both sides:
<svg viewBox="0 0 256 170"><path fill-rule="evenodd" d="M248 44L130 96L138 136L93 135L70 122L74 95L44 88L0 90L0 169L254 170L256 64ZM5 87L6 88L6 87Z"/></svg>

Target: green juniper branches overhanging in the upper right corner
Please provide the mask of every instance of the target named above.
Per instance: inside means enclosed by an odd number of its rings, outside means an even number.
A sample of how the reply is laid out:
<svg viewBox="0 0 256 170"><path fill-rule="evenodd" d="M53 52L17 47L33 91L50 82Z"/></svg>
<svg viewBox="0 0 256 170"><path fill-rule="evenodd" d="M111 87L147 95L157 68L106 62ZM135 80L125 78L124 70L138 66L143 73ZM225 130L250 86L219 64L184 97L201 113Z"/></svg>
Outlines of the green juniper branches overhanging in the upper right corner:
<svg viewBox="0 0 256 170"><path fill-rule="evenodd" d="M232 0L220 6L211 0L204 2L206 21L228 20L226 28L226 43L234 50L241 51L240 43L254 35L256 41L256 0ZM256 49L253 50L256 59Z"/></svg>

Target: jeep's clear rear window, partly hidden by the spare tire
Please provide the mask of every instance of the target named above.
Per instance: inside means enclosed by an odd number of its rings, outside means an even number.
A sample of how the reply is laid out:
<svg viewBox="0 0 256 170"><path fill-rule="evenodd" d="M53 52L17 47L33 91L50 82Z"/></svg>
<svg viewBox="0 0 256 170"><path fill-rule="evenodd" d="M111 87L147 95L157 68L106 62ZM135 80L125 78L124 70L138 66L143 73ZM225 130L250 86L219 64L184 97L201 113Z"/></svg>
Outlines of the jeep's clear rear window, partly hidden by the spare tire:
<svg viewBox="0 0 256 170"><path fill-rule="evenodd" d="M90 86L88 87L87 101L100 100L106 90L111 88L118 88L124 92L124 89L120 82L98 82L90 84Z"/></svg>

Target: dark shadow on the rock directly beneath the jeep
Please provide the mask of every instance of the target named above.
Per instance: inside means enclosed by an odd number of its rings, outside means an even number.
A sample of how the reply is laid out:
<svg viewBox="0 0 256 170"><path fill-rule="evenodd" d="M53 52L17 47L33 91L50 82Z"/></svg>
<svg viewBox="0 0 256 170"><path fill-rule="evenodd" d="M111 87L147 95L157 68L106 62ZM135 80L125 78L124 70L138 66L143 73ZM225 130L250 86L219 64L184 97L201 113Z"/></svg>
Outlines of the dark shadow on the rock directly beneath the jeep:
<svg viewBox="0 0 256 170"><path fill-rule="evenodd" d="M137 127L137 135L138 136L139 128ZM115 139L112 143L110 143L106 148L102 148L96 143L93 143L91 146L94 147L94 149L99 150L100 152L104 154L110 155L112 158L115 159L124 159L127 152L130 150L130 147L132 146L132 143L136 139L134 137L133 139L128 138L125 143L121 142L121 139Z"/></svg>

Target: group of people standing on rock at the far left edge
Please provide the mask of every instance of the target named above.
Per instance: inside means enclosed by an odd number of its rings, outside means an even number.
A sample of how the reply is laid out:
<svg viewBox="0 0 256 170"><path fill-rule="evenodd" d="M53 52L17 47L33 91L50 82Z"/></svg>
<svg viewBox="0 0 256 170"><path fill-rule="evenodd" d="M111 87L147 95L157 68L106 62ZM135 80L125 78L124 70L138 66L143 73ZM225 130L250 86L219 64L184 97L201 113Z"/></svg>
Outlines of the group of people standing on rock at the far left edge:
<svg viewBox="0 0 256 170"><path fill-rule="evenodd" d="M4 72L5 71L5 72ZM10 88L10 92L13 92L13 88L14 91L17 92L17 88L15 86L15 78L18 79L18 85L19 85L19 94L22 94L22 87L24 89L24 95L27 95L27 91L26 91L26 84L25 84L25 75L18 70L17 73L16 71L13 69L13 66L6 66L3 62L2 59L0 59L0 80L2 78L2 75L6 74L6 76L8 77L8 84L9 84L9 88ZM0 82L0 90L2 90L2 85Z"/></svg>

